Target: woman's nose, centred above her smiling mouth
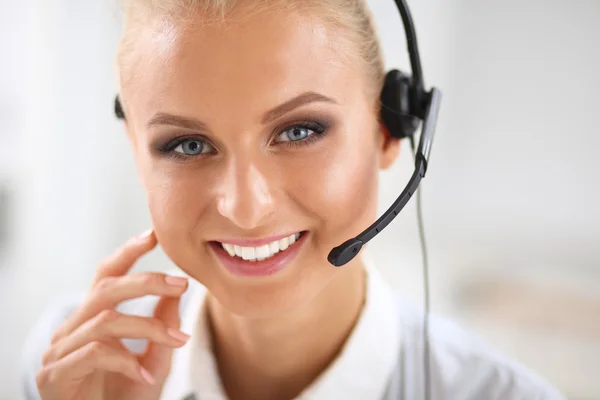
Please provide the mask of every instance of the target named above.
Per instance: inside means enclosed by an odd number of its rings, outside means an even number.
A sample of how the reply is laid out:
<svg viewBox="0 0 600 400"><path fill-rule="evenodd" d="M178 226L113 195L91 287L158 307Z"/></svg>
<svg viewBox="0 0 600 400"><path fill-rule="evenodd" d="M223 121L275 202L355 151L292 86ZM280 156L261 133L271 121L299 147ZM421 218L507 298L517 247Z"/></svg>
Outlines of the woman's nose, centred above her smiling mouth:
<svg viewBox="0 0 600 400"><path fill-rule="evenodd" d="M264 224L275 207L272 182L250 162L232 163L225 175L217 198L219 213L242 229Z"/></svg>

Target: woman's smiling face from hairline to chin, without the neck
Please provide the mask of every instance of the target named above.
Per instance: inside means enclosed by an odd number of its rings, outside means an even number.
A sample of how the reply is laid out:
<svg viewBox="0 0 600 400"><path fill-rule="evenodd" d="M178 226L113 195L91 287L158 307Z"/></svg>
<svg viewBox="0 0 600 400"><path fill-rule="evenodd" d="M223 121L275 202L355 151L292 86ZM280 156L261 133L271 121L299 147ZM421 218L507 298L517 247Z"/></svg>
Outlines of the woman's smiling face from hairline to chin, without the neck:
<svg viewBox="0 0 600 400"><path fill-rule="evenodd" d="M327 255L376 217L378 169L398 144L338 35L265 13L226 28L157 23L136 39L122 93L157 237L236 314L294 309L360 263ZM259 267L268 259L225 262L219 245L297 232L275 273Z"/></svg>

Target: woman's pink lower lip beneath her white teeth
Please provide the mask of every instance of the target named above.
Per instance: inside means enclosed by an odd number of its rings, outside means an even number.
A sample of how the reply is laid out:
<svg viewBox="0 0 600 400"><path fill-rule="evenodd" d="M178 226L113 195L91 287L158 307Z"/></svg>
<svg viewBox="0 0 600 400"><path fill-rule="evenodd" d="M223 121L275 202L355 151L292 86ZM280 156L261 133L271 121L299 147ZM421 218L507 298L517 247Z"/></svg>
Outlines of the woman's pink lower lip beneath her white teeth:
<svg viewBox="0 0 600 400"><path fill-rule="evenodd" d="M262 261L246 261L239 257L231 257L221 244L217 242L209 242L209 246L215 252L225 269L232 274L244 277L261 277L275 275L288 266L296 258L304 243L306 243L308 235L309 232L302 232L300 238L286 250L280 251L273 257Z"/></svg>

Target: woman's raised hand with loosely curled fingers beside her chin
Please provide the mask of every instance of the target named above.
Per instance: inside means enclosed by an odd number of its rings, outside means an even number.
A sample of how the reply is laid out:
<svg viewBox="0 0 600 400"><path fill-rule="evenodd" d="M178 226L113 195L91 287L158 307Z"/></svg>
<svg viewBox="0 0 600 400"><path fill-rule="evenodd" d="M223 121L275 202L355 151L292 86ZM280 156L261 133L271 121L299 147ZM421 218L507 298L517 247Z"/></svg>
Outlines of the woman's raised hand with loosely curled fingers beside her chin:
<svg viewBox="0 0 600 400"><path fill-rule="evenodd" d="M36 382L43 400L157 400L171 369L179 331L179 300L187 280L160 273L129 274L138 258L156 246L153 231L133 238L97 268L80 307L54 332ZM146 295L160 299L154 316L115 310ZM123 338L148 339L143 354L129 351Z"/></svg>

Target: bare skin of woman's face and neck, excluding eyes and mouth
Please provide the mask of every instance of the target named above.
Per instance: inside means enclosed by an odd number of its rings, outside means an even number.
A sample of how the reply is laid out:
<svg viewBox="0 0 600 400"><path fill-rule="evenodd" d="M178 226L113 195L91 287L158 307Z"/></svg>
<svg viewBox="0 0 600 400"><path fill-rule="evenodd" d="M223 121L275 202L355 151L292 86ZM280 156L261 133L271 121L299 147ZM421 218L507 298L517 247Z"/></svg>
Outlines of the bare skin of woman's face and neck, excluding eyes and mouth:
<svg viewBox="0 0 600 400"><path fill-rule="evenodd" d="M289 399L331 363L360 315L362 259L335 268L327 254L375 220L378 172L399 142L378 120L364 66L341 57L340 32L306 13L243 15L234 11L226 29L156 16L137 35L121 96L158 242L209 291L228 396ZM332 100L264 121L309 92ZM203 126L149 126L159 113ZM283 142L302 121L326 122L326 134ZM206 153L156 150L175 137L203 141ZM301 252L270 277L232 275L208 245L300 231L309 232Z"/></svg>

